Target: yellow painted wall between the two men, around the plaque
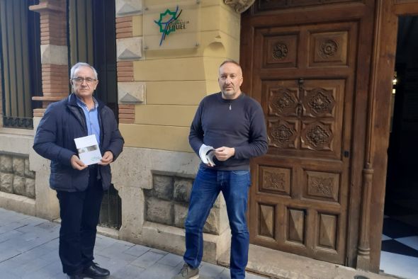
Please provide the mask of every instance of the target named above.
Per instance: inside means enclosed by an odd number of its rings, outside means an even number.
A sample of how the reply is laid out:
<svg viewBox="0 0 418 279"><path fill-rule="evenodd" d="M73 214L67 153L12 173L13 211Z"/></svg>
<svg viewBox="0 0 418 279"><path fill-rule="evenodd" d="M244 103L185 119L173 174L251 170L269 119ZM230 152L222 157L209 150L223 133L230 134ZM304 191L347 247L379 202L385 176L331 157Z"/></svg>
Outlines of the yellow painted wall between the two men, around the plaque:
<svg viewBox="0 0 418 279"><path fill-rule="evenodd" d="M147 0L147 6L171 0ZM142 35L143 16L132 17ZM135 106L135 123L121 124L125 146L192 152L188 132L200 100L219 91L218 67L239 59L240 15L222 0L200 1L199 46L187 50L145 50L134 62L134 80L146 84L145 102Z"/></svg>

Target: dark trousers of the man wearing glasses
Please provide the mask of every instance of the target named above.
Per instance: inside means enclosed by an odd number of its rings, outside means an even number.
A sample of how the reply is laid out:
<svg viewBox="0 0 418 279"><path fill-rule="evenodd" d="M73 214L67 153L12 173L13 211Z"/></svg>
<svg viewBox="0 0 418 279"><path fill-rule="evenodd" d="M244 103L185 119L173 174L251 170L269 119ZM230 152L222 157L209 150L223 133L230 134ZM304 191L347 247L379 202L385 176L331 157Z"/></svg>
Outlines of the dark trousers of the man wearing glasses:
<svg viewBox="0 0 418 279"><path fill-rule="evenodd" d="M62 271L79 274L93 263L103 188L97 166L89 166L89 186L82 192L57 191L60 201L60 259Z"/></svg>

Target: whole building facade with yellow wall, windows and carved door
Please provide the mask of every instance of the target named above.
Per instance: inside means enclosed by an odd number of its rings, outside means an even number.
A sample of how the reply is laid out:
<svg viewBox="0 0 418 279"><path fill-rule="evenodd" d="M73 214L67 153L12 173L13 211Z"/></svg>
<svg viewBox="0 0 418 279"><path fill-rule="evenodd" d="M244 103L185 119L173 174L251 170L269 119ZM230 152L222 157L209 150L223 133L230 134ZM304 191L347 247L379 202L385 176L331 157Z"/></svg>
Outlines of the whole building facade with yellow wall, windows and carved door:
<svg viewBox="0 0 418 279"><path fill-rule="evenodd" d="M33 135L71 65L89 62L125 137L101 231L181 254L199 164L189 125L235 59L269 134L252 160L252 244L378 271L397 18L418 1L0 0L0 13L1 207L59 217ZM220 197L205 260L229 243Z"/></svg>

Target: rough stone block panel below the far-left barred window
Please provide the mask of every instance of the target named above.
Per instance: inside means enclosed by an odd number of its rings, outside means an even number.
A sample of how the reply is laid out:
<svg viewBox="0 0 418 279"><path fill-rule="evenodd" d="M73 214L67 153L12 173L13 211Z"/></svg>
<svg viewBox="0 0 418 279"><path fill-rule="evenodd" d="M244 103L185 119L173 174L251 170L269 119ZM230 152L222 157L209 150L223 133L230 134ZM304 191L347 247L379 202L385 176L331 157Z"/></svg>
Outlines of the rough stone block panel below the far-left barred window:
<svg viewBox="0 0 418 279"><path fill-rule="evenodd" d="M35 198L35 172L29 157L0 153L0 191Z"/></svg>

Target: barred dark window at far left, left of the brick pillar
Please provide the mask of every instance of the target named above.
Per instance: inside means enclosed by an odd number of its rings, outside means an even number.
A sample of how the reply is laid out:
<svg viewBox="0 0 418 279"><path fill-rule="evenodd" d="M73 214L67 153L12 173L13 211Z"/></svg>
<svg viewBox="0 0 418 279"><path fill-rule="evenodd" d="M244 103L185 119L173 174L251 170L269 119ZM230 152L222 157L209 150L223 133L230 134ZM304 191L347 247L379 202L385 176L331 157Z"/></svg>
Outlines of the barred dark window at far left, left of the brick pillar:
<svg viewBox="0 0 418 279"><path fill-rule="evenodd" d="M38 0L0 0L1 101L4 127L33 128L32 96L42 95Z"/></svg>

